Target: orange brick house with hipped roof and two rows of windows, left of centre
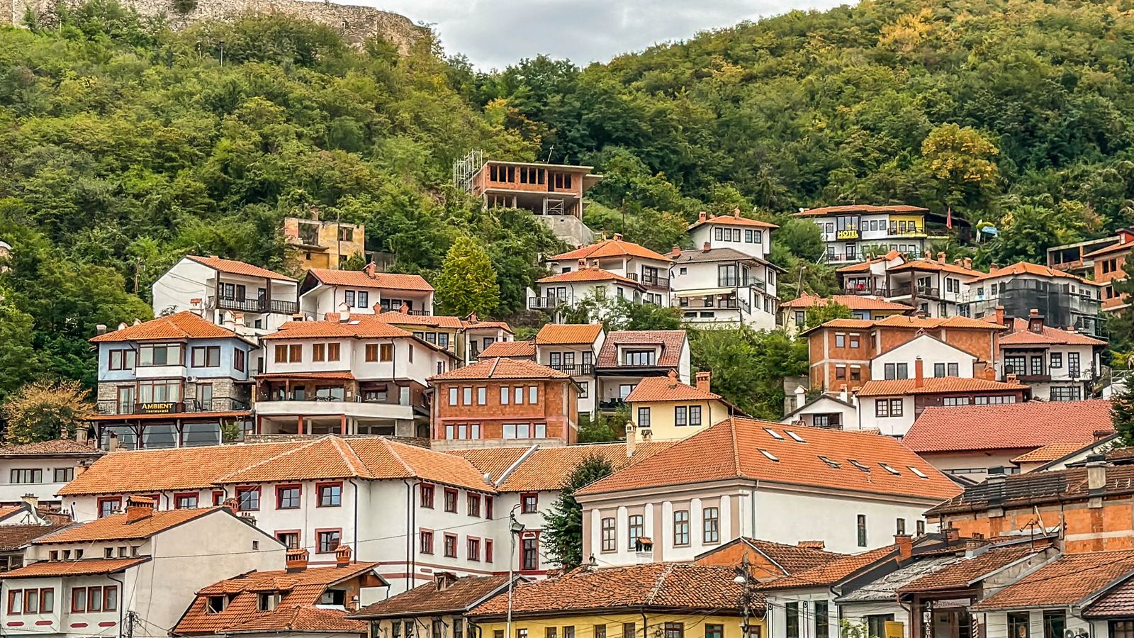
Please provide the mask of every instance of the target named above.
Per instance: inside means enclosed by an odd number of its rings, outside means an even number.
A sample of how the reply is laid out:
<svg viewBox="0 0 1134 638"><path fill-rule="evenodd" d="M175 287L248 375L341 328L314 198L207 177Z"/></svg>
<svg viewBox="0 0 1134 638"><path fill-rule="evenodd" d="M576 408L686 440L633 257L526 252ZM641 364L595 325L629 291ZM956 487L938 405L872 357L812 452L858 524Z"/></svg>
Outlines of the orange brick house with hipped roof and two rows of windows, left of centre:
<svg viewBox="0 0 1134 638"><path fill-rule="evenodd" d="M434 446L578 440L578 385L534 361L496 356L429 378Z"/></svg>

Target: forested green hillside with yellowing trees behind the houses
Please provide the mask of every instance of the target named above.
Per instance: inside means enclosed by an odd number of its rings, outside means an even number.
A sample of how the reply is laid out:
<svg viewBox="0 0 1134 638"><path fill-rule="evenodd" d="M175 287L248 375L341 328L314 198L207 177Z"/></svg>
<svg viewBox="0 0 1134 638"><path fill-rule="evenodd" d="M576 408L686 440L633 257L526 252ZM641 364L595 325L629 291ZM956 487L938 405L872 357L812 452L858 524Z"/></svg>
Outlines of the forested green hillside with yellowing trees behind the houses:
<svg viewBox="0 0 1134 638"><path fill-rule="evenodd" d="M500 285L494 314L511 317L558 245L530 216L454 192L450 165L472 149L593 165L606 179L587 224L658 250L685 242L699 210L775 219L785 295L821 250L785 217L804 205L951 208L1000 235L950 257L1041 260L1134 224L1132 10L863 2L606 65L488 74L443 43L401 57L284 19L174 33L108 0L58 28L2 30L0 400L35 378L91 384L95 325L149 313L150 284L181 254L289 268L280 220L313 207L431 279L474 237ZM831 282L807 267L806 287ZM735 355L703 343L701 363ZM788 347L767 345L752 347ZM779 391L761 383L753 401L771 410Z"/></svg>

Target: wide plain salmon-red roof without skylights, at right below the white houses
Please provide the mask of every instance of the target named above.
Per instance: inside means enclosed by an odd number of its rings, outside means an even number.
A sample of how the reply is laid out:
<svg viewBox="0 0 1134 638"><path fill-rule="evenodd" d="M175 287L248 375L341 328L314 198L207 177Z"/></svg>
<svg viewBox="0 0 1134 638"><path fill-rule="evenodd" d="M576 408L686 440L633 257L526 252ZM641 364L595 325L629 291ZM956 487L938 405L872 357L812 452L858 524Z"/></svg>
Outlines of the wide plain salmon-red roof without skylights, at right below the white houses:
<svg viewBox="0 0 1134 638"><path fill-rule="evenodd" d="M1077 450L1100 431L1114 431L1109 401L1025 401L926 408L902 442L919 454L1035 450L1050 444Z"/></svg>

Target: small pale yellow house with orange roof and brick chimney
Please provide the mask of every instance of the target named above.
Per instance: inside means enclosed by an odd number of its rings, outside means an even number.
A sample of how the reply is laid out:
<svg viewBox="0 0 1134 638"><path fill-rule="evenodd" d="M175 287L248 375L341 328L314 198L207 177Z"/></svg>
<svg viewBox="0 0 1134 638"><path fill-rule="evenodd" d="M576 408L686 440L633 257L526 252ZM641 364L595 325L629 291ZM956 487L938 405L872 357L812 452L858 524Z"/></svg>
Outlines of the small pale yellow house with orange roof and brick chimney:
<svg viewBox="0 0 1134 638"><path fill-rule="evenodd" d="M710 372L697 372L694 378L695 386L677 380L676 372L646 377L631 391L626 402L635 440L679 440L728 417L744 415L709 392Z"/></svg>

